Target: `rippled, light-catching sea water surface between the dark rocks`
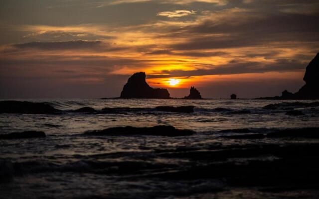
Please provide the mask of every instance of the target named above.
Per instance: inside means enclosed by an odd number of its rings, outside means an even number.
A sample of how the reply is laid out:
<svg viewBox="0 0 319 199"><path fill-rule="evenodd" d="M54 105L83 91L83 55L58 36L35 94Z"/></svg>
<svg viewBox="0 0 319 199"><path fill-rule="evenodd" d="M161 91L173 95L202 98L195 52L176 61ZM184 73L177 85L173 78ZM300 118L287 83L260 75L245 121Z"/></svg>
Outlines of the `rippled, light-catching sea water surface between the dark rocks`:
<svg viewBox="0 0 319 199"><path fill-rule="evenodd" d="M263 185L233 186L226 176L206 178L216 165L272 162L280 155L232 155L216 152L259 147L318 144L306 139L227 139L218 132L248 128L249 133L319 127L319 107L293 107L304 115L287 115L285 107L264 109L279 100L28 100L65 110L59 115L0 114L0 133L40 130L46 138L0 140L0 198L281 198L308 196L314 190L264 192ZM299 100L300 101L300 100ZM286 100L285 102L294 102ZM312 102L305 100L304 102ZM195 106L193 113L144 110L123 114L70 113L84 106ZM87 130L116 126L172 125L192 136L93 136ZM268 148L267 148L268 150ZM228 154L228 155L227 155ZM205 170L204 169L204 170ZM216 168L215 168L216 169ZM206 170L205 170L206 171ZM206 172L207 172L206 171ZM216 172L218 172L216 170ZM225 172L225 171L223 171ZM226 171L227 172L227 171ZM195 173L195 177L192 176ZM174 175L173 175L174 174ZM180 174L180 175L177 175ZM208 176L209 176L208 175ZM215 174L214 174L215 175ZM237 174L234 174L237 175ZM188 176L188 177L187 177ZM236 181L237 182L237 181ZM267 185L266 187L269 187ZM291 196L290 196L290 195Z"/></svg>

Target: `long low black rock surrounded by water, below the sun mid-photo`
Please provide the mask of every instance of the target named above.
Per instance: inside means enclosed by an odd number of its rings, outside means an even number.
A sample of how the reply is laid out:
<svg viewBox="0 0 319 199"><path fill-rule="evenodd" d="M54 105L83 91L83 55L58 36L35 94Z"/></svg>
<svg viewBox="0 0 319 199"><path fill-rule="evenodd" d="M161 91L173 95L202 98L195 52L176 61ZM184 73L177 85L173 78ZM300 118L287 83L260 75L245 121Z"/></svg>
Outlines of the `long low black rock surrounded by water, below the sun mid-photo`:
<svg viewBox="0 0 319 199"><path fill-rule="evenodd" d="M158 136L186 136L195 132L187 129L176 129L173 126L153 126L153 127L114 127L104 130L87 131L84 135L158 135Z"/></svg>

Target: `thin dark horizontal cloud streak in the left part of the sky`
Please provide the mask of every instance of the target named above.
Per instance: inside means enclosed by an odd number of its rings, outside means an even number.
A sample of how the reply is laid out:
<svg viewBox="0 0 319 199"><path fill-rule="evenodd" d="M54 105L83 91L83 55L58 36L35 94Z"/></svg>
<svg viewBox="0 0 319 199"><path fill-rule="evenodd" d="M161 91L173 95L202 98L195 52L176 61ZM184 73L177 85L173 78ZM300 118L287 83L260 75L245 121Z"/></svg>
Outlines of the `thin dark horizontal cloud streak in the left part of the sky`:
<svg viewBox="0 0 319 199"><path fill-rule="evenodd" d="M57 41L57 42L29 42L14 44L16 48L37 48L41 50L66 50L66 49L83 49L97 47L101 41L85 41L85 40L71 40L71 41Z"/></svg>

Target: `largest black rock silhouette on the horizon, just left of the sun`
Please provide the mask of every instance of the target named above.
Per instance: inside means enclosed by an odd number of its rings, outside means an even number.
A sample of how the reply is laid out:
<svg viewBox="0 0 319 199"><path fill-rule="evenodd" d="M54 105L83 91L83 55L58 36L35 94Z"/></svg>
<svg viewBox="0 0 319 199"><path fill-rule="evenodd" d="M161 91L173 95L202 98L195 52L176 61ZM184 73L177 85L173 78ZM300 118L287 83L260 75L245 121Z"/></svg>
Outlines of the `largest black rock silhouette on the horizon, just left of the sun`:
<svg viewBox="0 0 319 199"><path fill-rule="evenodd" d="M145 78L144 72L133 74L124 85L120 98L170 99L166 89L153 89Z"/></svg>

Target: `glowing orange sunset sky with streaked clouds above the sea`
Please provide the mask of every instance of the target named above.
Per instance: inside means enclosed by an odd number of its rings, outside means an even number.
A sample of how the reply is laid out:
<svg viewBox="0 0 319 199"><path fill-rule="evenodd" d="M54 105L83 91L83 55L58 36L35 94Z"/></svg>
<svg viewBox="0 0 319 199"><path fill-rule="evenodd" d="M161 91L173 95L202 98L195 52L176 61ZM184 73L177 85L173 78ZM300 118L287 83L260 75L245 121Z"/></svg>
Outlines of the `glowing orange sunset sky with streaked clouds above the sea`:
<svg viewBox="0 0 319 199"><path fill-rule="evenodd" d="M276 96L317 52L318 0L0 0L0 98Z"/></svg>

